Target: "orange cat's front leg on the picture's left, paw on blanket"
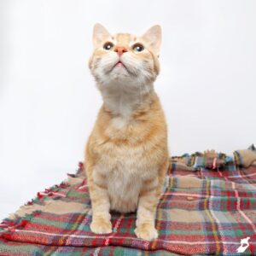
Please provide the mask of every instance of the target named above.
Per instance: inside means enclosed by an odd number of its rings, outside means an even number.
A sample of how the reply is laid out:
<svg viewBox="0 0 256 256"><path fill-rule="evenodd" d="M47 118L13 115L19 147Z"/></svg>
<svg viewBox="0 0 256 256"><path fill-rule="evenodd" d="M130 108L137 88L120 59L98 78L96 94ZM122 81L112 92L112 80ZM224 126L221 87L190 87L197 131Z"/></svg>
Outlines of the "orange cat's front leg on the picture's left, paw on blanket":
<svg viewBox="0 0 256 256"><path fill-rule="evenodd" d="M90 200L92 208L90 230L96 234L111 233L112 224L107 189L90 180Z"/></svg>

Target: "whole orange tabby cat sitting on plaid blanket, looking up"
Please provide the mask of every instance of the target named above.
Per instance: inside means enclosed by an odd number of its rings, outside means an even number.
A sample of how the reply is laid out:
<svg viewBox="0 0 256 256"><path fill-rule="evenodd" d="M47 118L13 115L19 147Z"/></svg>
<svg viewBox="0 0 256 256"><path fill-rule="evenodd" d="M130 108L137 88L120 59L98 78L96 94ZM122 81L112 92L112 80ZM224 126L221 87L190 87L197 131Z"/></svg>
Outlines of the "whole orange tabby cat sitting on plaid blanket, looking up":
<svg viewBox="0 0 256 256"><path fill-rule="evenodd" d="M96 234L112 232L110 210L137 210L137 237L158 236L154 215L169 159L166 119L153 86L160 41L160 26L142 37L94 27L89 66L103 105L86 146L85 172Z"/></svg>

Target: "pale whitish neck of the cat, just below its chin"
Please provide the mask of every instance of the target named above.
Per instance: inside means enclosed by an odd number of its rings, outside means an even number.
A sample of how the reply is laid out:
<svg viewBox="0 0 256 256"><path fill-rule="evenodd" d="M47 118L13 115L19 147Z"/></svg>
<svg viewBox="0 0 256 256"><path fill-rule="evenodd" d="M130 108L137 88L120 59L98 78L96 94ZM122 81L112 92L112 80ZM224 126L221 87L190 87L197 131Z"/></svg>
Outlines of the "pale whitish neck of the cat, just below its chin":
<svg viewBox="0 0 256 256"><path fill-rule="evenodd" d="M119 86L119 84L112 85L101 90L103 106L113 115L124 118L129 118L131 113L141 108L147 102L147 99L154 94L153 84L133 88Z"/></svg>

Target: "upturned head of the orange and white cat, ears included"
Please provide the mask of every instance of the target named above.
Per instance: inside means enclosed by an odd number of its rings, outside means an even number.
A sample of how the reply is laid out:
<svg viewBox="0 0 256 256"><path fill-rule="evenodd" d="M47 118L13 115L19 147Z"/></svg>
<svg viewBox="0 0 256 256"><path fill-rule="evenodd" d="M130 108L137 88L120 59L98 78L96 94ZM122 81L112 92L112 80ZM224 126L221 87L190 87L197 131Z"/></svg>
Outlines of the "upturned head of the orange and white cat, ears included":
<svg viewBox="0 0 256 256"><path fill-rule="evenodd" d="M160 26L152 26L137 37L129 33L111 35L104 26L96 24L89 67L98 86L119 84L132 89L137 84L152 84L160 71L160 43Z"/></svg>

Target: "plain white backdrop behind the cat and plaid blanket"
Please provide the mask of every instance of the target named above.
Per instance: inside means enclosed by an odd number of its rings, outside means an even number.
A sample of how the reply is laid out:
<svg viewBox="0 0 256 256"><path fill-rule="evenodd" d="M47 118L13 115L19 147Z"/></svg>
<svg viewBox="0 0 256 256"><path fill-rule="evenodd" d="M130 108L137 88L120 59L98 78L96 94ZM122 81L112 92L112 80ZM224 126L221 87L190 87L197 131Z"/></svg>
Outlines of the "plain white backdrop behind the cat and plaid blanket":
<svg viewBox="0 0 256 256"><path fill-rule="evenodd" d="M102 104L88 69L96 22L160 24L155 83L171 153L256 143L255 1L0 0L0 218L83 160Z"/></svg>

